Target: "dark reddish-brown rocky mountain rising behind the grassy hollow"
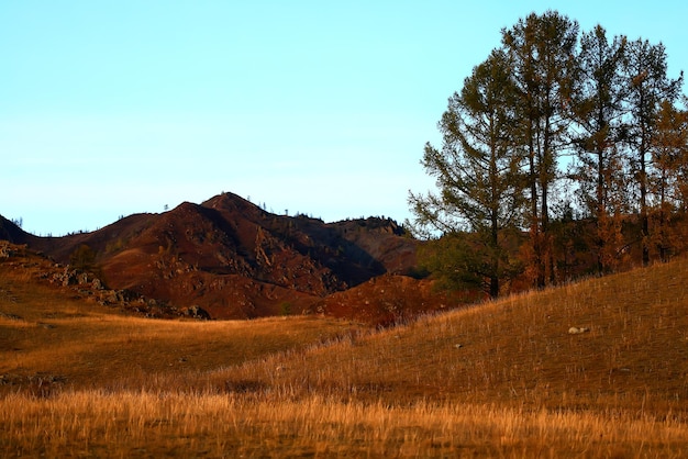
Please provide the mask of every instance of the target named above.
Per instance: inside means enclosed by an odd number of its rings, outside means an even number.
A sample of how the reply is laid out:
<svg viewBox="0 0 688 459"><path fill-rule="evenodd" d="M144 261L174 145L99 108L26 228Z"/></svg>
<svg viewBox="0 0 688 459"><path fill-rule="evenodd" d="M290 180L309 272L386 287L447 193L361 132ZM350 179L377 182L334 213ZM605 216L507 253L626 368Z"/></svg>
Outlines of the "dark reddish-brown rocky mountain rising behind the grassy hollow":
<svg viewBox="0 0 688 459"><path fill-rule="evenodd" d="M333 293L410 273L420 244L389 219L276 215L232 193L63 237L36 237L2 219L0 238L97 271L110 289L198 305L214 318L314 311Z"/></svg>

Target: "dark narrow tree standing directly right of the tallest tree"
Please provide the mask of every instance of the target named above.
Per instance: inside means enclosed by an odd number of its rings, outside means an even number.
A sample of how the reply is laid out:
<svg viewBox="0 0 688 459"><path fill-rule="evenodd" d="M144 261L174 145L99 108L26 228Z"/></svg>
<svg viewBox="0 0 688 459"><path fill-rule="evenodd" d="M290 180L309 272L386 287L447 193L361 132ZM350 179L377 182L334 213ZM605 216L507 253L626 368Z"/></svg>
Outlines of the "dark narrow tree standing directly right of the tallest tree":
<svg viewBox="0 0 688 459"><path fill-rule="evenodd" d="M595 222L598 272L613 270L623 245L625 187L620 142L625 87L622 65L625 37L609 43L602 26L580 37L572 94L573 141L579 163L573 175L579 200Z"/></svg>

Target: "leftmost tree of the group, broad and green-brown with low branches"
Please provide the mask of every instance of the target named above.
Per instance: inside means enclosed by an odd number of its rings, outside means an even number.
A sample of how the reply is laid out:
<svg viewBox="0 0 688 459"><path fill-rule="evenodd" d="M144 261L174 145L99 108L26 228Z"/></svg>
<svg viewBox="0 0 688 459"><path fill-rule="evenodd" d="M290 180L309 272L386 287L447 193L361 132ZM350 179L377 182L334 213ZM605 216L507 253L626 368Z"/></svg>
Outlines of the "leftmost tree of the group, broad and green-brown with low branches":
<svg viewBox="0 0 688 459"><path fill-rule="evenodd" d="M450 99L439 123L442 149L426 144L421 161L436 178L440 194L409 197L417 233L439 231L457 242L443 245L440 270L445 278L460 272L462 280L465 273L487 279L485 290L492 298L512 268L501 245L503 233L517 226L522 195L510 68L503 52L492 52ZM454 254L454 262L444 261L447 253Z"/></svg>

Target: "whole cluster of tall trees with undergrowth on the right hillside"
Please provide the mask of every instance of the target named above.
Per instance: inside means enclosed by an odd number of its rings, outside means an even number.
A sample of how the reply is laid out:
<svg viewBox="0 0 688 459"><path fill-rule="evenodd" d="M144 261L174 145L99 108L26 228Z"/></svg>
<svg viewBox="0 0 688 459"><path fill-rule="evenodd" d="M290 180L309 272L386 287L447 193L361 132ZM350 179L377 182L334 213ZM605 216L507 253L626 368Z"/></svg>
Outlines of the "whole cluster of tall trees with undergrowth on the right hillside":
<svg viewBox="0 0 688 459"><path fill-rule="evenodd" d="M685 251L687 99L665 47L555 11L501 35L425 145L437 191L409 194L426 269L497 296Z"/></svg>

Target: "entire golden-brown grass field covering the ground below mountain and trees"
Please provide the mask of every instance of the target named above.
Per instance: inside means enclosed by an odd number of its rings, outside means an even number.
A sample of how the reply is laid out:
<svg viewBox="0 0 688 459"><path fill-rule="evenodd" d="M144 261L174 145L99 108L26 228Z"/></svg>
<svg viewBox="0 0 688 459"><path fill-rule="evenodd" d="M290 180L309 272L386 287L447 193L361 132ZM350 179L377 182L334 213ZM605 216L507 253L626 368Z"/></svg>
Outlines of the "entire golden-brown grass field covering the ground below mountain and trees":
<svg viewBox="0 0 688 459"><path fill-rule="evenodd" d="M688 457L686 260L384 331L146 320L34 277L0 262L2 457Z"/></svg>

